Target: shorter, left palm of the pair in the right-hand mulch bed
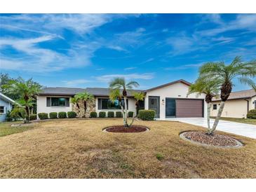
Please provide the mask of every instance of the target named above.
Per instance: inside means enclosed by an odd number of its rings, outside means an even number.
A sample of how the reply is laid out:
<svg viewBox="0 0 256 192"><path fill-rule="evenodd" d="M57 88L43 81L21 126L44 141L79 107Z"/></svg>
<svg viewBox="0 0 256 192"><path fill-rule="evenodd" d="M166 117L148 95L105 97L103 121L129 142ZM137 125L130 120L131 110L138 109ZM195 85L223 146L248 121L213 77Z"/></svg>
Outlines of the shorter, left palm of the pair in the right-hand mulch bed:
<svg viewBox="0 0 256 192"><path fill-rule="evenodd" d="M207 103L207 124L210 131L210 103L215 95L220 92L221 81L213 78L198 78L194 84L189 87L189 94L197 92L198 94L206 94ZM208 132L206 133L208 134Z"/></svg>

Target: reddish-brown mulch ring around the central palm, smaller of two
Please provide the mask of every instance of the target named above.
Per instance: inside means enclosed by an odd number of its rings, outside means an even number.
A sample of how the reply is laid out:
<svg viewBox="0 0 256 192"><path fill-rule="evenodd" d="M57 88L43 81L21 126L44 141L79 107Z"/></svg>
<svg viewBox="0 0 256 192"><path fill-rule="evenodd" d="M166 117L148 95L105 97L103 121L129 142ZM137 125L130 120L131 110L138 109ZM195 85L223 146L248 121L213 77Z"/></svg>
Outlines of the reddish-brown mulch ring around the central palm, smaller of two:
<svg viewBox="0 0 256 192"><path fill-rule="evenodd" d="M104 132L144 132L148 131L149 128L142 125L132 125L129 128L124 127L123 125L113 125L107 128L104 128Z"/></svg>

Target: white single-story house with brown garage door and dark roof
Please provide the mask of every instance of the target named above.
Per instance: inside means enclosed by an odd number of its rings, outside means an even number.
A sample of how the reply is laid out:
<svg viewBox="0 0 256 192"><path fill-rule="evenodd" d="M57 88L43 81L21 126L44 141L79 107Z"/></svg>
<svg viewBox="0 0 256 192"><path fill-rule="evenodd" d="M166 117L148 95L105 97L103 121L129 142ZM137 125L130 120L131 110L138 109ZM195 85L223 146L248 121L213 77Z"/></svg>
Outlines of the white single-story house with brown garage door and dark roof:
<svg viewBox="0 0 256 192"><path fill-rule="evenodd" d="M128 111L136 113L133 92L144 92L144 101L139 103L139 108L153 109L156 111L156 118L206 117L205 95L188 95L190 85L191 83L181 79L148 90L129 90ZM76 105L71 104L70 99L76 93L84 91L95 97L95 101L88 104L86 116L90 116L90 111L96 111L97 114L100 111L121 111L117 101L109 100L109 88L44 88L37 97L37 113L77 112Z"/></svg>

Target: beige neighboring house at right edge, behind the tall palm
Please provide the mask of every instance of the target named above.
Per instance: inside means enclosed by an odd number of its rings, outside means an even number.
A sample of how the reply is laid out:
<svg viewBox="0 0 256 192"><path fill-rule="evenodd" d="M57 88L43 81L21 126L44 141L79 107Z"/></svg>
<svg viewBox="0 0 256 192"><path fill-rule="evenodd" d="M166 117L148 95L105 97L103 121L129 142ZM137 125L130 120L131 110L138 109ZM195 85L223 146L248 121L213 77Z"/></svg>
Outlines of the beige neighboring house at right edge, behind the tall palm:
<svg viewBox="0 0 256 192"><path fill-rule="evenodd" d="M220 107L220 98L213 99L210 116L217 116ZM256 109L256 91L242 90L231 92L229 99L225 102L222 117L246 118L248 111Z"/></svg>

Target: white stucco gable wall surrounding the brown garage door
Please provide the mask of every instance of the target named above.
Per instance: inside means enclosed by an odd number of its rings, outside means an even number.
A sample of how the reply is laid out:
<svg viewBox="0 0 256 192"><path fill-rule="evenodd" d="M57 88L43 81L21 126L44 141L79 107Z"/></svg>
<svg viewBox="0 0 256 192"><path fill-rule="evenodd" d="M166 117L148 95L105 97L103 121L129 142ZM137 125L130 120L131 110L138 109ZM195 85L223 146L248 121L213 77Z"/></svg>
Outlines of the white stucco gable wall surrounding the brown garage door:
<svg viewBox="0 0 256 192"><path fill-rule="evenodd" d="M145 109L149 109L149 96L160 96L160 118L166 118L166 97L173 98L189 98L189 99L204 99L205 94L197 95L195 93L187 96L189 92L189 85L184 83L175 83L172 85L158 88L156 90L150 90L145 96ZM162 101L163 100L163 101ZM204 117L207 117L207 104L204 102Z"/></svg>

